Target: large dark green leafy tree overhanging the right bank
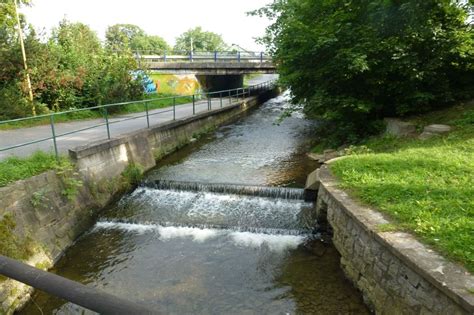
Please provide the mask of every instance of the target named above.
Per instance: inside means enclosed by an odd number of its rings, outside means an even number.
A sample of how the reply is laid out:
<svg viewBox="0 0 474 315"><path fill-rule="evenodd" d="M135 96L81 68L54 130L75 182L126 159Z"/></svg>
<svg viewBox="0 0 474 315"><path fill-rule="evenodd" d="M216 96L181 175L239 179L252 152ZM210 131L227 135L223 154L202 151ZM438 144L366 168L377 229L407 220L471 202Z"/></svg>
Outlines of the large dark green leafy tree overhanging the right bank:
<svg viewBox="0 0 474 315"><path fill-rule="evenodd" d="M466 1L275 0L262 39L294 103L337 142L387 116L473 96L474 35Z"/></svg>

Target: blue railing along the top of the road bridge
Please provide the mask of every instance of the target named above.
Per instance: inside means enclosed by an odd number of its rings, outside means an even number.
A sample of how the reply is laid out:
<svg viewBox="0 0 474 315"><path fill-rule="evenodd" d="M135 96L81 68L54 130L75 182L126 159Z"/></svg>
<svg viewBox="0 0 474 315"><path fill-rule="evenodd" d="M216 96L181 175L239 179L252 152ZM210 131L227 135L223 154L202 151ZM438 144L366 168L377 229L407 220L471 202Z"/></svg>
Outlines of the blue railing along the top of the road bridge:
<svg viewBox="0 0 474 315"><path fill-rule="evenodd" d="M254 62L270 63L272 58L264 52L214 51L214 52L153 52L136 51L134 56L144 62Z"/></svg>

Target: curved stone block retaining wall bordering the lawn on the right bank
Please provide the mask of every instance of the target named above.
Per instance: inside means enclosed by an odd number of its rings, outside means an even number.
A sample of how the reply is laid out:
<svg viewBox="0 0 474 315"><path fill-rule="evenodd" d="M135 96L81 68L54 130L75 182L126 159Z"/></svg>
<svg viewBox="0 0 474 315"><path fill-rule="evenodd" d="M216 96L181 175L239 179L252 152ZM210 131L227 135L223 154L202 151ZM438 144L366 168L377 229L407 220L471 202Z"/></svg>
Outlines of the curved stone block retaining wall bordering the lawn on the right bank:
<svg viewBox="0 0 474 315"><path fill-rule="evenodd" d="M316 215L332 228L347 277L377 314L474 314L474 277L338 188L323 165ZM317 185L316 185L317 186Z"/></svg>

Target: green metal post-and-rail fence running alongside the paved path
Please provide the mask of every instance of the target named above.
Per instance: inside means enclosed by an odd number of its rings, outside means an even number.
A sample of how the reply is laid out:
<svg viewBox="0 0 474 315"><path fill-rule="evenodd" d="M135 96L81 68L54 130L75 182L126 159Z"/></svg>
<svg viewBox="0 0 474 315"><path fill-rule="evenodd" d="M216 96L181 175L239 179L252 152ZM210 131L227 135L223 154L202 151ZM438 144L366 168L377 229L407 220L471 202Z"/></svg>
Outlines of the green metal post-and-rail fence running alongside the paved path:
<svg viewBox="0 0 474 315"><path fill-rule="evenodd" d="M64 111L64 112L50 113L46 115L0 121L0 127L1 127L2 125L15 125L15 124L21 125L25 122L27 122L27 124L28 123L31 124L32 121L42 120L42 121L45 121L46 124L49 124L50 129L51 129L51 134L48 137L43 137L43 138L35 139L32 141L18 143L18 144L6 146L6 147L0 147L0 152L10 151L10 150L14 150L21 147L27 147L27 146L31 146L31 145L41 143L41 142L52 141L53 147L54 147L54 153L56 157L59 159L59 150L58 150L58 142L57 142L58 138L70 136L70 135L73 135L82 131L90 130L90 129L105 127L104 129L106 131L106 137L104 137L104 139L111 139L112 132L111 132L110 126L113 124L119 124L128 120L136 120L136 119L144 118L143 127L150 128L150 126L153 123L152 118L154 116L163 115L166 113L172 113L171 115L169 114L171 116L170 120L176 120L177 119L176 107L178 106L177 101L182 100L183 98L186 100L189 99L188 106L192 104L192 116L194 116L200 112L203 112L202 109L198 111L198 106L202 108L204 105L204 112L211 111L213 109L216 109L216 107L222 108L222 107L236 104L238 102L245 100L246 97L261 93L262 91L270 90L274 88L274 86L275 86L275 81L267 81L267 82L252 85L249 87L242 87L242 88L231 89L231 90L223 90L223 91L209 92L209 93L201 92L201 93L186 95L186 96L170 96L170 97L160 97L160 98L146 99L146 100L133 101L133 102L114 103L114 104L107 104L107 105L101 105L101 106L95 106L95 107L69 110L69 111ZM153 111L152 109L150 109L150 104L153 104L153 102L164 101L164 100L171 101L171 105L163 109L157 109ZM132 117L116 116L118 118L117 120L110 121L110 119L112 118L111 113L113 112L120 113L121 107L123 108L124 106L131 105L131 104L143 106L143 111L138 112L136 115L132 115ZM205 106L206 104L207 106ZM101 119L103 119L103 121L92 126L83 127L83 128L75 129L72 131L67 131L63 133L57 132L58 123L56 121L58 120L58 117L73 115L74 113L79 113L83 111L95 111L97 113L100 113L102 117ZM189 117L189 116L190 115L183 116L180 118Z"/></svg>

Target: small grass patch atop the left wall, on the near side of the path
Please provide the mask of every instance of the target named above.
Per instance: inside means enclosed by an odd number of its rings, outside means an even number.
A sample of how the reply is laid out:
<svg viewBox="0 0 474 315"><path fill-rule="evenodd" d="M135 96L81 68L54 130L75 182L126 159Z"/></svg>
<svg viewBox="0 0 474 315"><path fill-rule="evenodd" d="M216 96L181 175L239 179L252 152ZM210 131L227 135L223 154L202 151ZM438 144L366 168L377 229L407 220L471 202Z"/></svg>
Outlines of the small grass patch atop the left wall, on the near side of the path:
<svg viewBox="0 0 474 315"><path fill-rule="evenodd" d="M54 154L38 151L27 158L11 157L0 161L0 187L55 169Z"/></svg>

